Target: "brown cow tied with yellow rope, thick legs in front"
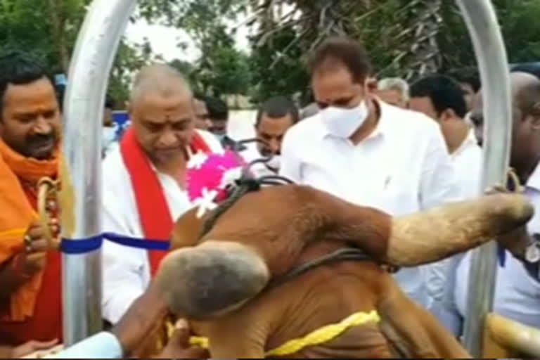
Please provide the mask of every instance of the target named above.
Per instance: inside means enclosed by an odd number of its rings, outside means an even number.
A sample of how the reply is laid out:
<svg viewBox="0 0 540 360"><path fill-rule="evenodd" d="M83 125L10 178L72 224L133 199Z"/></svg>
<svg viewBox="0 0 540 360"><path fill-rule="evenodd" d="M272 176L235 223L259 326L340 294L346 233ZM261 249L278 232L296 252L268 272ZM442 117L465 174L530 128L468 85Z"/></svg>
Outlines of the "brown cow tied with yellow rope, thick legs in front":
<svg viewBox="0 0 540 360"><path fill-rule="evenodd" d="M209 340L212 357L223 359L264 357L358 311L377 311L380 321L283 356L470 357L383 265L436 262L515 234L533 214L522 195L499 193L392 218L308 186L273 186L239 198L201 238L212 214L198 219L195 211L177 221L178 250L164 259L156 281L174 314L190 319L195 333ZM344 248L368 259L327 262L287 276Z"/></svg>

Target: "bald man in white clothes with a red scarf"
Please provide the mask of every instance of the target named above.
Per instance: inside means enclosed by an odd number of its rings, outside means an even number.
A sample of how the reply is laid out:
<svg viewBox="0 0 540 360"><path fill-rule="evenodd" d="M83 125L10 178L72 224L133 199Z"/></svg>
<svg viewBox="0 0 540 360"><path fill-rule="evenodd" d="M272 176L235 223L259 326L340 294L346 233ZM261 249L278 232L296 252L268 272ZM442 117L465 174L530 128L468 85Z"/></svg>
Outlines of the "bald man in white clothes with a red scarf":
<svg viewBox="0 0 540 360"><path fill-rule="evenodd" d="M150 65L131 90L131 129L103 162L103 230L134 238L168 240L173 222L192 205L186 164L198 152L222 148L195 129L194 99L184 77ZM103 316L115 324L147 288L165 252L103 245Z"/></svg>

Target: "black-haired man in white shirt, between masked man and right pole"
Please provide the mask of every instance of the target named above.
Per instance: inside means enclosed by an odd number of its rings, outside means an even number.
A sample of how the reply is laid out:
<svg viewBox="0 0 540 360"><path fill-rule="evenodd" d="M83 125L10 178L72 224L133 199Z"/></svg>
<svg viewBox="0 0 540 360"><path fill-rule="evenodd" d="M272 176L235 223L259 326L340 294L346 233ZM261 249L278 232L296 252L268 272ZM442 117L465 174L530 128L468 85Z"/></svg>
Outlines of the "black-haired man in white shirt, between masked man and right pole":
<svg viewBox="0 0 540 360"><path fill-rule="evenodd" d="M461 196L464 199L476 198L480 194L482 149L477 144L474 129L463 119L467 105L461 86L454 79L443 75L423 77L411 85L409 108L428 115L439 124L454 165ZM455 335L461 330L461 319L455 316L453 293L456 266L462 256L456 255L432 264L428 280L428 286L444 291L434 295L440 303L435 313Z"/></svg>

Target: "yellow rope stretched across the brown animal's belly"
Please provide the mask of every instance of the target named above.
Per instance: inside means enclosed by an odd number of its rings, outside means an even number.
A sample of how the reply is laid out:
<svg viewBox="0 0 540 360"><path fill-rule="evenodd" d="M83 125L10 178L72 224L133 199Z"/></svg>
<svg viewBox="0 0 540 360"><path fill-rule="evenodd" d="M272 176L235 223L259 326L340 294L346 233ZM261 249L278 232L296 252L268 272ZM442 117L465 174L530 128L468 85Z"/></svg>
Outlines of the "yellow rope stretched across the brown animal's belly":
<svg viewBox="0 0 540 360"><path fill-rule="evenodd" d="M304 338L289 340L280 347L266 352L266 356L286 356L296 354L306 347L321 345L334 340L342 333L349 330L349 328L353 328L354 326L361 326L365 325L366 323L378 323L379 321L380 317L377 311L373 310L369 313L359 311L352 314L340 323L330 324L314 330L313 332L304 336ZM207 338L192 336L189 342L191 346L203 347L205 349L208 349L209 347L209 341Z"/></svg>

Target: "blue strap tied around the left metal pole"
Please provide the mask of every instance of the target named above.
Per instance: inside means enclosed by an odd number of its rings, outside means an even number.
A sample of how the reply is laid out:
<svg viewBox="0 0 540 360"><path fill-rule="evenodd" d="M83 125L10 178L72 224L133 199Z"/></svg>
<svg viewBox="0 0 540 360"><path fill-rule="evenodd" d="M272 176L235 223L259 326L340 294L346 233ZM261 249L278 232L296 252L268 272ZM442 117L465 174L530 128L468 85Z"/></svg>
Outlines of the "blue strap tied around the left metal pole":
<svg viewBox="0 0 540 360"><path fill-rule="evenodd" d="M102 233L85 239L65 239L60 242L60 251L70 255L81 255L93 252L101 248L103 239L119 245L143 250L168 251L171 248L169 240L151 240L143 238L131 238L116 233Z"/></svg>

